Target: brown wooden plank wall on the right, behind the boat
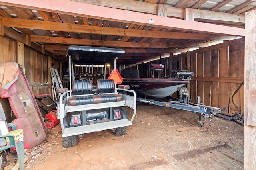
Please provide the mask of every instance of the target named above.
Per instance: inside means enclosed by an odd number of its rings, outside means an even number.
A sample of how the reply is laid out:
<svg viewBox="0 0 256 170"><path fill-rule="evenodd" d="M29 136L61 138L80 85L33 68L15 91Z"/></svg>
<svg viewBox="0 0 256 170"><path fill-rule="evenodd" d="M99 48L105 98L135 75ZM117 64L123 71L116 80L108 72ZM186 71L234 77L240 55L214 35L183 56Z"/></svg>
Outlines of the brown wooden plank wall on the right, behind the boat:
<svg viewBox="0 0 256 170"><path fill-rule="evenodd" d="M190 66L187 66L187 57L190 57ZM244 39L224 41L218 45L190 51L188 54L181 53L140 64L138 69L146 77L154 75L156 78L157 74L150 71L150 64L157 63L164 64L160 77L169 76L170 70L188 70L195 73L190 86L187 86L191 102L196 103L196 96L200 96L205 105L218 107L222 113L231 116L244 109L244 85L234 94L244 80ZM177 93L172 96L178 97ZM238 108L233 104L232 96Z"/></svg>

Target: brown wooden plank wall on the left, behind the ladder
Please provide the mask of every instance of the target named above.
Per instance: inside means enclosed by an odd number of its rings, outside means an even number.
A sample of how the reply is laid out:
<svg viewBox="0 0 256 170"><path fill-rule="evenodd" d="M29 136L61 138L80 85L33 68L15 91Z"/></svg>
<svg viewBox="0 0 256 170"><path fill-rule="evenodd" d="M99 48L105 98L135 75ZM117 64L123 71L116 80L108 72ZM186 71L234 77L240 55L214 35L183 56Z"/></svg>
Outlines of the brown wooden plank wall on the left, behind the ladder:
<svg viewBox="0 0 256 170"><path fill-rule="evenodd" d="M24 54L24 67L26 70L25 74L28 82L36 82L39 84L48 82L48 71L50 72L50 70L48 70L48 56L30 49L26 45L24 49ZM0 36L0 62L17 62L17 56L17 42L4 36ZM54 66L60 69L60 62L56 59L50 57L49 63L54 63ZM41 93L41 91L38 90L38 93ZM7 120L10 120L12 114L8 99L0 98L0 102L6 113Z"/></svg>

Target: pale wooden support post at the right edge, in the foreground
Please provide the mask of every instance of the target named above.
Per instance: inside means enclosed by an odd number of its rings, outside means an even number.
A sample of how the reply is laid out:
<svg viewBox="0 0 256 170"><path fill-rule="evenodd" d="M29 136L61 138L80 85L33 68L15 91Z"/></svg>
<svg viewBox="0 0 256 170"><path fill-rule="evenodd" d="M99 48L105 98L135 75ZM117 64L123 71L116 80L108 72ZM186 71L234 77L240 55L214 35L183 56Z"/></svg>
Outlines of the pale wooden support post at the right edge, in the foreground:
<svg viewBox="0 0 256 170"><path fill-rule="evenodd" d="M256 169L256 10L245 15L244 169Z"/></svg>

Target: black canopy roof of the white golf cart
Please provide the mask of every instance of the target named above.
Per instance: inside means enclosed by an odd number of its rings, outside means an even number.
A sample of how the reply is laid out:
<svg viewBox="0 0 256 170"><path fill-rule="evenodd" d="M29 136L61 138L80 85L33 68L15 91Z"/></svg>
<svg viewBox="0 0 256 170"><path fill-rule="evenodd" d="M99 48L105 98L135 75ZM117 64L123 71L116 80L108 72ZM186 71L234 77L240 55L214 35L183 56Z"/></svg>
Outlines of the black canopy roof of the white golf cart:
<svg viewBox="0 0 256 170"><path fill-rule="evenodd" d="M67 56L71 55L74 64L106 64L125 54L124 50L104 47L72 45L67 48Z"/></svg>

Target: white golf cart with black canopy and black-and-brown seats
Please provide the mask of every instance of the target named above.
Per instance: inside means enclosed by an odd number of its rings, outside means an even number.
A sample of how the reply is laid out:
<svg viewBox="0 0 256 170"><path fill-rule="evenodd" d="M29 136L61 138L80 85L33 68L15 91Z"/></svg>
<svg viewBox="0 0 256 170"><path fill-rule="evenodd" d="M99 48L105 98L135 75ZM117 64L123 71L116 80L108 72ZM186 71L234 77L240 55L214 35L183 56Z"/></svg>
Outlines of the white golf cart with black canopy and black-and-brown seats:
<svg viewBox="0 0 256 170"><path fill-rule="evenodd" d="M115 136L126 134L126 127L132 125L136 114L136 94L129 86L116 88L113 79L98 79L92 84L90 79L75 80L76 66L105 66L125 55L120 49L103 47L70 46L67 48L69 59L69 89L58 88L60 100L57 115L62 129L63 147L78 143L78 135L111 129ZM115 69L115 68L114 68ZM129 94L129 95L128 95ZM126 107L133 110L128 120Z"/></svg>

